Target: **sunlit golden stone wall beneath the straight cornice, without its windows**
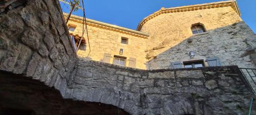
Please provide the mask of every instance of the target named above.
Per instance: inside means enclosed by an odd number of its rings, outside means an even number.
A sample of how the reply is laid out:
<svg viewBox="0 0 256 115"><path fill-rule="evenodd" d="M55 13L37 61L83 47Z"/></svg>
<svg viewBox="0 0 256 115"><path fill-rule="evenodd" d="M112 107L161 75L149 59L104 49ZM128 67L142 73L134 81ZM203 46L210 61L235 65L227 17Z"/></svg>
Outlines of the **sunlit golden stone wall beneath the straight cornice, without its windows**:
<svg viewBox="0 0 256 115"><path fill-rule="evenodd" d="M70 20L68 24L76 25L73 34L82 35L82 24ZM89 44L87 35L85 33L84 38L87 41L86 51L79 50L77 55L79 57L87 58L95 61L102 61L104 53L111 54L110 63L113 63L114 55L126 57L126 66L129 65L129 58L136 58L136 68L146 69L146 40L145 38L128 35L121 32L107 30L99 27L87 26L88 35L90 40L91 52L89 50ZM128 44L121 43L121 37L128 38ZM123 54L119 55L119 50L123 49Z"/></svg>

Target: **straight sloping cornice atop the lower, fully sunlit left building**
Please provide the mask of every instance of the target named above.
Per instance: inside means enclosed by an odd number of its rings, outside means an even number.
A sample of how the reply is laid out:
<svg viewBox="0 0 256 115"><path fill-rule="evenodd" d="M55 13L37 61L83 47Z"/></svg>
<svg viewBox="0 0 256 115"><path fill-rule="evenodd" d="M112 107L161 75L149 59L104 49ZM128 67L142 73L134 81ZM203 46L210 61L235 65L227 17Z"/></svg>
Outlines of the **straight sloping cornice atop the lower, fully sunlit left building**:
<svg viewBox="0 0 256 115"><path fill-rule="evenodd" d="M65 17L68 16L67 13L63 13L63 15ZM83 17L80 17L80 16L71 15L70 20L78 22L80 24L83 24ZM143 32L140 32L140 31L119 27L119 26L116 26L116 25L106 24L104 22L96 21L96 20L93 20L93 19L88 19L87 18L86 21L87 21L87 25L97 27L97 28L111 30L111 31L124 33L124 34L128 34L128 35L136 36L136 37L146 38L146 39L150 36L147 33L143 33Z"/></svg>

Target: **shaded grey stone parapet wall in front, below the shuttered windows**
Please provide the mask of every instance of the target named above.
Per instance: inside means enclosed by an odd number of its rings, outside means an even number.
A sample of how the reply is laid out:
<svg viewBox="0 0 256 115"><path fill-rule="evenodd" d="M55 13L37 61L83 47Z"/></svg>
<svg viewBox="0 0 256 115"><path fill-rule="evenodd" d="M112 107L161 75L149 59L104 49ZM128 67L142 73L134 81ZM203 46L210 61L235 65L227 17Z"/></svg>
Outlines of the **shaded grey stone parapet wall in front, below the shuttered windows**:
<svg viewBox="0 0 256 115"><path fill-rule="evenodd" d="M253 95L239 72L237 66L145 71L80 59L65 98L130 114L246 114Z"/></svg>

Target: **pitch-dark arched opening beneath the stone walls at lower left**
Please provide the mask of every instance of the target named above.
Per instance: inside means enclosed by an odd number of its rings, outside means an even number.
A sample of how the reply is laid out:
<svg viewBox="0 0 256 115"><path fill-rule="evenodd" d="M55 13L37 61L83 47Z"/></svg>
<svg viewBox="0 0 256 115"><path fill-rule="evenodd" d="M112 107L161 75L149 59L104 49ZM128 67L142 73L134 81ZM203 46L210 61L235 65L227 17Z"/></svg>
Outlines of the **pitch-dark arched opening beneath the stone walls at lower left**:
<svg viewBox="0 0 256 115"><path fill-rule="evenodd" d="M119 113L118 113L119 112ZM59 90L22 75L0 72L0 114L129 115L116 106L63 99Z"/></svg>

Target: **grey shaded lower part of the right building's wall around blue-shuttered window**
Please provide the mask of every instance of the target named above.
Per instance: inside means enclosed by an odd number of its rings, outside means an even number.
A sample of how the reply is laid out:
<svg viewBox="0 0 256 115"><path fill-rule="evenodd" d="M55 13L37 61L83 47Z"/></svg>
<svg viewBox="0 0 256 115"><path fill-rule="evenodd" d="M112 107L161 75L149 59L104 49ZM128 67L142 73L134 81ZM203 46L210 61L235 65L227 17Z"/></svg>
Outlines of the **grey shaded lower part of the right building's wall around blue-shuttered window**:
<svg viewBox="0 0 256 115"><path fill-rule="evenodd" d="M149 61L145 64L149 70L175 68L172 62L184 67L183 62L191 60L201 60L208 66L207 58L219 59L221 65L255 68L256 35L244 21L195 34L173 47L164 42L146 52ZM190 51L194 51L195 57L189 56Z"/></svg>

